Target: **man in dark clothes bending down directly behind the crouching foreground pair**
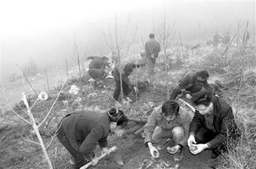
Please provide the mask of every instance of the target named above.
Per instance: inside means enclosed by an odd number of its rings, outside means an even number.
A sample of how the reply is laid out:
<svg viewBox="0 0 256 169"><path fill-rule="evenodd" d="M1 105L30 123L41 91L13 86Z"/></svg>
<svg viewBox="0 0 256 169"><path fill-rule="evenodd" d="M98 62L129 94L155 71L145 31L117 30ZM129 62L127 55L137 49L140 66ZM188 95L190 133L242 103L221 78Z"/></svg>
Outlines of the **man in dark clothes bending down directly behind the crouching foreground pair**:
<svg viewBox="0 0 256 169"><path fill-rule="evenodd" d="M192 101L195 101L202 93L207 91L213 93L207 82L208 77L207 71L189 71L173 88L170 101L175 100L177 95L181 93L186 94L186 98Z"/></svg>

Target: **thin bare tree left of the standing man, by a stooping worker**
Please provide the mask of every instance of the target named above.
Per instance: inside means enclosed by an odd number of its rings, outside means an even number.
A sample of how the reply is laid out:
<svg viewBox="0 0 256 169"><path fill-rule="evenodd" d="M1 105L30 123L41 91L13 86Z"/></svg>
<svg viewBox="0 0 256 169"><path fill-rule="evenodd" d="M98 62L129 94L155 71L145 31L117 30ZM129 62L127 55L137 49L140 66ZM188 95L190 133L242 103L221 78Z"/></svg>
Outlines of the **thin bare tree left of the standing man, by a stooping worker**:
<svg viewBox="0 0 256 169"><path fill-rule="evenodd" d="M122 79L121 79L121 58L125 58L128 55L129 48L132 46L132 43L135 40L135 35L137 32L137 28L136 28L135 34L131 40L127 37L130 18L131 18L131 15L129 15L129 17L127 18L127 24L125 26L125 30L119 31L118 30L118 17L117 17L117 15L115 15L115 25L113 28L113 30L114 30L113 34L111 31L110 25L108 26L108 39L109 40L107 39L105 32L103 32L105 42L108 45L108 48L112 52L116 52L116 54L118 55L119 76L120 76L120 83L121 83L121 102L123 101L123 98L124 98L123 85L122 85ZM120 32L124 32L124 34L121 34ZM127 43L126 48L124 47L125 43Z"/></svg>

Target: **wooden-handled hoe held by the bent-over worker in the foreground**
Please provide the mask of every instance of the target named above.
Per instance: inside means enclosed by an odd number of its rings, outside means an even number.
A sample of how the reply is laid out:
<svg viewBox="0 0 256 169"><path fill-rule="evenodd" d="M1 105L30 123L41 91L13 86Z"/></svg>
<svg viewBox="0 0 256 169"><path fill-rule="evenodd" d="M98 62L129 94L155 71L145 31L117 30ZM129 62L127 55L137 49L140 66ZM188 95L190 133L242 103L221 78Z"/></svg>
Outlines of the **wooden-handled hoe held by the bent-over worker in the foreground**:
<svg viewBox="0 0 256 169"><path fill-rule="evenodd" d="M113 159L114 162L118 163L118 165L124 165L124 162L121 158L121 154L120 152L118 151L117 147L116 146L113 146L112 148L110 148L109 150L109 156L110 156L110 159ZM105 153L105 154L102 154L98 159L99 161L102 160L103 158L107 157L108 154ZM83 167L81 167L80 169L86 169L86 168L89 168L91 167L91 165L93 164L93 162L89 162L87 163L86 165L83 165Z"/></svg>

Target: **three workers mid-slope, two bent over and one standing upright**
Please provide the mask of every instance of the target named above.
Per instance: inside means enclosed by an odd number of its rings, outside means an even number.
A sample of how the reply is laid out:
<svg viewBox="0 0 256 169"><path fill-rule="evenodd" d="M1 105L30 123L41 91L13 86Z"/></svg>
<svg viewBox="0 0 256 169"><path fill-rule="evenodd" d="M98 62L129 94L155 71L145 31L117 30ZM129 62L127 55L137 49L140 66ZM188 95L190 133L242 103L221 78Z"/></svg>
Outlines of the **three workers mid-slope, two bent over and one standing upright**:
<svg viewBox="0 0 256 169"><path fill-rule="evenodd" d="M148 68L148 74L154 74L154 66L156 64L157 57L161 51L161 45L154 39L154 34L149 34L149 40L145 44L145 50L140 53L142 57L146 57L146 66ZM135 84L129 80L129 75L132 74L134 68L139 68L140 64L130 63L121 63L118 61L116 53L112 55L113 63L115 67L112 70L114 80L116 82L116 88L113 93L113 98L118 101L120 92L121 92L121 83L123 88L124 95L129 95L129 87L132 87L135 92L138 92L138 88L135 87ZM89 75L99 82L104 79L105 76L109 73L106 67L110 68L110 63L108 63L108 58L103 56L90 56L87 59L92 59L89 64ZM120 79L121 75L121 79Z"/></svg>

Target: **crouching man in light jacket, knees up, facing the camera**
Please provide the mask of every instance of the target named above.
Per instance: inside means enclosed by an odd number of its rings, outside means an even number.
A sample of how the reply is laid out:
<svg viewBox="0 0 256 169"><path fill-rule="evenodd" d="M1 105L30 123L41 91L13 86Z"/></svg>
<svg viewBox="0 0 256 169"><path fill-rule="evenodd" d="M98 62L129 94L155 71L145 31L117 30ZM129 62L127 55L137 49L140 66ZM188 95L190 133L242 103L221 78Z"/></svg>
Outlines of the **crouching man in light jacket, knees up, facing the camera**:
<svg viewBox="0 0 256 169"><path fill-rule="evenodd" d="M174 160L180 161L184 157L184 146L187 146L189 136L188 112L175 101L165 101L154 108L144 128L145 144L154 158L159 157L159 152L152 144L158 144L159 149L166 144L168 138L173 138L176 146L167 147L167 152L174 154Z"/></svg>

